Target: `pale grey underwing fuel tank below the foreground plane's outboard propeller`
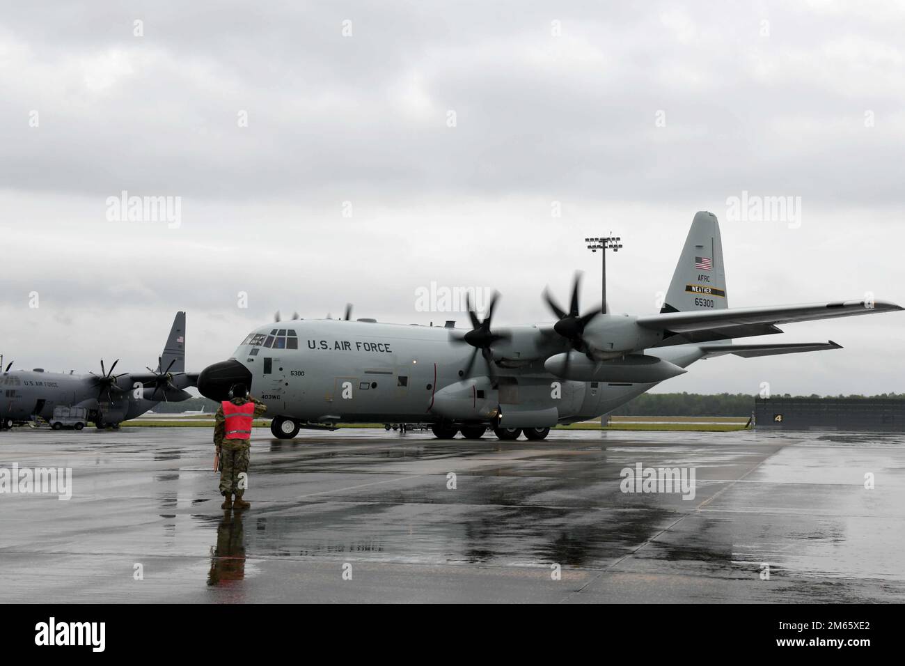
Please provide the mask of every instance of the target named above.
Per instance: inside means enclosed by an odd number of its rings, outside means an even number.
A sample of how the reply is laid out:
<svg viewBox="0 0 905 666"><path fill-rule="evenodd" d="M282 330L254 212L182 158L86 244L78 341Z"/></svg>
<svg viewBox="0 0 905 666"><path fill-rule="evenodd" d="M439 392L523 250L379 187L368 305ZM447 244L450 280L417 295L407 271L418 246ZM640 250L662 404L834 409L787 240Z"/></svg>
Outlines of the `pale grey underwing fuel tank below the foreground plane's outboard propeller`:
<svg viewBox="0 0 905 666"><path fill-rule="evenodd" d="M654 381L668 380L671 377L687 372L675 363L663 361L656 356L644 354L628 354L612 361L592 361L583 353L557 353L544 362L544 368L550 374L575 381L618 381L632 384L647 384Z"/></svg>

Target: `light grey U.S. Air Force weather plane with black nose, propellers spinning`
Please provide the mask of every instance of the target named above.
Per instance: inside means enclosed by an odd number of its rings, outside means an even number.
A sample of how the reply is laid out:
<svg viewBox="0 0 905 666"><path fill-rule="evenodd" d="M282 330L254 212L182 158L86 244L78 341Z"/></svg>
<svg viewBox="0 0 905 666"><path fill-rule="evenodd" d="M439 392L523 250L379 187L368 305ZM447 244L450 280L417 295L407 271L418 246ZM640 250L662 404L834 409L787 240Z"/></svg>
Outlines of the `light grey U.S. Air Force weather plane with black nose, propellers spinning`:
<svg viewBox="0 0 905 666"><path fill-rule="evenodd" d="M345 320L268 324L233 358L205 368L198 390L221 401L237 383L252 387L281 439L300 427L374 421L430 423L441 439L459 431L477 439L488 427L499 439L543 439L551 426L610 412L700 359L840 348L733 338L902 309L871 300L729 308L719 223L708 212L694 217L659 314L581 314L578 287L576 275L568 309L545 292L553 323L493 327L494 295L485 319L469 313L470 331L351 321L348 310Z"/></svg>

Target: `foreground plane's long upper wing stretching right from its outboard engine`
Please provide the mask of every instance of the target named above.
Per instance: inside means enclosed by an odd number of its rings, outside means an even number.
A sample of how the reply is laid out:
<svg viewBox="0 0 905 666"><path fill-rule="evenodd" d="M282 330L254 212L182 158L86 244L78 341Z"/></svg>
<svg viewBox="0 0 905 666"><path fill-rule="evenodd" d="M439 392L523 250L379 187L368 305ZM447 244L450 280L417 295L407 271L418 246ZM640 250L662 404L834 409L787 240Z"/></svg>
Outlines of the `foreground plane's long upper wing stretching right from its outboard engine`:
<svg viewBox="0 0 905 666"><path fill-rule="evenodd" d="M740 307L724 310L690 310L685 312L649 314L639 317L637 323L644 328L672 333L697 333L738 326L793 322L810 322L817 319L852 317L858 314L876 314L903 310L889 301L835 301L801 305L770 305L767 307Z"/></svg>

